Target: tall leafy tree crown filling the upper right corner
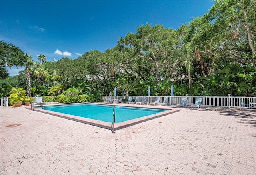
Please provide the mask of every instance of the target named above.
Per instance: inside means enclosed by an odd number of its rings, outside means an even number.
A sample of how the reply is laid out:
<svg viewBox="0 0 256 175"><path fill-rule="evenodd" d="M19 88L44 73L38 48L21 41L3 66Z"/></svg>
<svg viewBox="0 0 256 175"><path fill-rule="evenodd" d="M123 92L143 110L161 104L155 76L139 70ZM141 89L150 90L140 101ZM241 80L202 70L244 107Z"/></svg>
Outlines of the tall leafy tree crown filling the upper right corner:
<svg viewBox="0 0 256 175"><path fill-rule="evenodd" d="M256 65L256 1L216 0L210 11L188 23L187 43L206 69L213 62ZM208 60L207 60L208 59ZM209 67L208 67L209 68Z"/></svg>

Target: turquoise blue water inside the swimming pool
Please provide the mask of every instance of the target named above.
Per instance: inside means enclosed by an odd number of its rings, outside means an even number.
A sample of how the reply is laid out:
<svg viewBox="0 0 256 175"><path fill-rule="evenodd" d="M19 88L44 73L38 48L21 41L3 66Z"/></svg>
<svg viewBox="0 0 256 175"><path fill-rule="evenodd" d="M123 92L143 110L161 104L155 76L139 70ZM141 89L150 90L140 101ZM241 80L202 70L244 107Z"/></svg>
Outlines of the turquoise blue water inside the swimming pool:
<svg viewBox="0 0 256 175"><path fill-rule="evenodd" d="M104 122L113 122L114 106L98 105L98 104L72 104L60 106L45 106L45 110L71 114ZM124 122L159 112L164 112L162 109L150 108L134 108L126 106L115 106L115 122Z"/></svg>

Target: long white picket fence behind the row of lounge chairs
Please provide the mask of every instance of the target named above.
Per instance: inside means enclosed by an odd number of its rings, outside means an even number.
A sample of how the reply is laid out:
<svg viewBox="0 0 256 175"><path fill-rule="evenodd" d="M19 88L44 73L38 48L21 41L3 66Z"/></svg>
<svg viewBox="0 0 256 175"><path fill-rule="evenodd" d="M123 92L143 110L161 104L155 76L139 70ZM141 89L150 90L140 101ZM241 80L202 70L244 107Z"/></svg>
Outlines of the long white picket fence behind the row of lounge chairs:
<svg viewBox="0 0 256 175"><path fill-rule="evenodd" d="M123 98L128 99L129 96L102 96L105 100L108 98ZM143 96L139 96L139 101L142 99ZM160 97L160 102L164 101L165 96L158 96ZM169 104L175 105L180 104L182 97L187 98L188 103L194 103L196 97L202 98L202 105L201 106L213 106L213 107L228 107L228 108L240 108L241 102L244 102L246 106L249 106L250 103L256 103L256 97L245 97L245 96L168 96L169 97ZM132 96L132 99L135 99L136 96ZM146 101L154 102L156 96L146 96ZM106 102L106 101L105 101ZM253 108L256 107L252 106Z"/></svg>

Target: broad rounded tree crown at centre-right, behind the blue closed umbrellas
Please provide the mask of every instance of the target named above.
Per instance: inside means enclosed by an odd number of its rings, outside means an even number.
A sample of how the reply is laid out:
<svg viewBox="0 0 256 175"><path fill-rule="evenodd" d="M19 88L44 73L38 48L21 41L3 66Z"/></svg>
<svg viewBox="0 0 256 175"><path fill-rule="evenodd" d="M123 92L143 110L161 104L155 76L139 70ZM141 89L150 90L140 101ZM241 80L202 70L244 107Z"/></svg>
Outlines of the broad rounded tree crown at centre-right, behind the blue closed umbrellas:
<svg viewBox="0 0 256 175"><path fill-rule="evenodd" d="M156 83L172 78L180 62L181 43L177 31L148 23L136 30L118 41L122 54L126 54L121 63L141 77L145 77L145 72L154 75Z"/></svg>

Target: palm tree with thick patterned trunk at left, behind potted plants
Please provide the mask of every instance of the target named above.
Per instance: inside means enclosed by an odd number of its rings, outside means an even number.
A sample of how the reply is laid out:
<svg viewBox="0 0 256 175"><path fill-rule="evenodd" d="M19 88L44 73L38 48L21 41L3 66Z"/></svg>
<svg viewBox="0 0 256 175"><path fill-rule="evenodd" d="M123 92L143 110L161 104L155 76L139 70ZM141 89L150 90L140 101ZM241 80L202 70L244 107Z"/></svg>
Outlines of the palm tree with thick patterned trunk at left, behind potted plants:
<svg viewBox="0 0 256 175"><path fill-rule="evenodd" d="M25 69L25 75L26 75L26 79L27 79L27 96L31 96L31 90L30 90L30 70L31 70L31 67L34 63L34 60L32 58L31 55L28 55L28 53L26 53L24 55L25 57L25 61L24 61L24 66L26 67Z"/></svg>

